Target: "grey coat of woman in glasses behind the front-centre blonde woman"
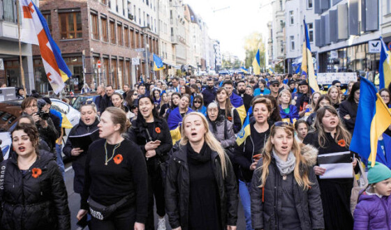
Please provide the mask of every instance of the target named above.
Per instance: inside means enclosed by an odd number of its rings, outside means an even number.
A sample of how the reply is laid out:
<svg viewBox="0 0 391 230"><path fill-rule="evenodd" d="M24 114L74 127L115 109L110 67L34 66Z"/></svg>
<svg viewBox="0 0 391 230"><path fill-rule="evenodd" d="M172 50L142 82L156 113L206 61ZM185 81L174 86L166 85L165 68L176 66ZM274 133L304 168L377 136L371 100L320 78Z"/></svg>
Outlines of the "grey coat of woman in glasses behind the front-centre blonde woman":
<svg viewBox="0 0 391 230"><path fill-rule="evenodd" d="M233 123L226 121L226 135L224 135L224 121L216 122L216 130L212 127L212 123L209 121L209 130L213 133L214 137L221 143L221 147L230 148L235 146L235 133L233 132Z"/></svg>

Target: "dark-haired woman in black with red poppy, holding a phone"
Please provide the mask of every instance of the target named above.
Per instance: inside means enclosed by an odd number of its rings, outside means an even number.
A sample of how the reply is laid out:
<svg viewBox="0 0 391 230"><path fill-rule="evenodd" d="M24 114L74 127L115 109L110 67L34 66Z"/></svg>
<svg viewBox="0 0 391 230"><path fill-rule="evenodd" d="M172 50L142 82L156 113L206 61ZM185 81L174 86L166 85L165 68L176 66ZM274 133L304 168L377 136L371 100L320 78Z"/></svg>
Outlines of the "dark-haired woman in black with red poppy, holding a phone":
<svg viewBox="0 0 391 230"><path fill-rule="evenodd" d="M128 138L140 147L148 169L148 219L145 229L154 229L154 197L159 215L158 229L165 227L164 189L161 169L165 165L172 139L167 122L158 116L152 98L138 99L138 116L128 130Z"/></svg>

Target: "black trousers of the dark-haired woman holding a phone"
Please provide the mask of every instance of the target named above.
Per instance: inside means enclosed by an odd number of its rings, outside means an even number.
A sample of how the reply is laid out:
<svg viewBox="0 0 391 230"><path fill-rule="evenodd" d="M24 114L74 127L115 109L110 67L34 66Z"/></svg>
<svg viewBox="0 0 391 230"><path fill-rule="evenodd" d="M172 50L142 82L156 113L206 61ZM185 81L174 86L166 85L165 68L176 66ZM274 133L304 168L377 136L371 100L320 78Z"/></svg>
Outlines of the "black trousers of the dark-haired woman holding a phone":
<svg viewBox="0 0 391 230"><path fill-rule="evenodd" d="M160 167L148 167L148 217L147 223L145 223L146 230L155 229L154 200L156 201L156 213L163 217L165 215L165 198Z"/></svg>

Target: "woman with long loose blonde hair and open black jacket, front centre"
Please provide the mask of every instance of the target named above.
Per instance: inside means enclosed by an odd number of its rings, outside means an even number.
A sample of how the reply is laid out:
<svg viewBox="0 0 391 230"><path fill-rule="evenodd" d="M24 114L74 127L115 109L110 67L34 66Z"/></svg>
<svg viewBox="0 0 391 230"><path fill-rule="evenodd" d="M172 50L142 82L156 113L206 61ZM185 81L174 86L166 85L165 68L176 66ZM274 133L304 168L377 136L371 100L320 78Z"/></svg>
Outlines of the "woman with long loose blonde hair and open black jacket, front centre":
<svg viewBox="0 0 391 230"><path fill-rule="evenodd" d="M233 167L204 115L187 114L182 139L172 148L165 183L170 225L178 229L236 229L237 183Z"/></svg>

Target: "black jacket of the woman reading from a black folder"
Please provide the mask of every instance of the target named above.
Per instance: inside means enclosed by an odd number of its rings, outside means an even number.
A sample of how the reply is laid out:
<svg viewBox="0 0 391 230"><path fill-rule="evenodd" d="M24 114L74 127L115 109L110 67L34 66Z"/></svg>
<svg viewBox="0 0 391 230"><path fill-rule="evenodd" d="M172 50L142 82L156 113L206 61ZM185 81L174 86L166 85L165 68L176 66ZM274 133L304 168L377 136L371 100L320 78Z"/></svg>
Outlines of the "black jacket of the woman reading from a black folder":
<svg viewBox="0 0 391 230"><path fill-rule="evenodd" d="M77 135L84 135L89 132L94 132L98 129L98 123L99 120L96 118L95 122L92 125L86 125L80 119L78 125L75 125L69 132L68 136L77 136ZM73 190L81 194L83 192L83 185L84 185L84 167L85 167L85 160L87 159L87 151L80 153L77 157L71 155L72 151L72 142L71 139L67 139L64 148L62 149L62 152L68 156L73 158L72 162L72 168L75 171L75 176L73 177Z"/></svg>

